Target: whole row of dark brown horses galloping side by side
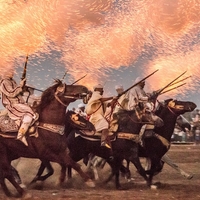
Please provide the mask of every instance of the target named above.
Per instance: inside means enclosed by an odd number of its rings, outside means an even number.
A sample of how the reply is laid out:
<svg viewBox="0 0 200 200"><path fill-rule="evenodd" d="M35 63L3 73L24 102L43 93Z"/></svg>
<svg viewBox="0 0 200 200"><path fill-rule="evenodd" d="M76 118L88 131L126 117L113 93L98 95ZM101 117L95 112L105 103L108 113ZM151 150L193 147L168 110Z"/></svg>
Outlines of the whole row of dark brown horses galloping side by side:
<svg viewBox="0 0 200 200"><path fill-rule="evenodd" d="M67 106L76 99L84 98L88 92L85 86L66 85L57 80L56 84L47 88L42 94L41 102L36 108L39 113L39 124L35 125L34 134L30 133L30 136L27 137L28 147L20 141L5 137L9 133L1 134L0 184L7 196L12 196L13 194L7 187L5 179L16 188L18 196L22 196L25 192L16 182L12 173L11 162L19 157L38 158L41 160L41 166L33 182L45 180L52 175L53 168L50 162L56 162L61 166L60 184L65 181L67 168L69 169L69 175L70 168L73 168L88 186L94 187L94 182L77 164L77 161L85 158L89 153L93 153L106 159L111 166L112 174L107 181L115 176L116 188L120 188L119 173L120 170L125 169L122 166L124 159L135 165L139 174L150 186L153 176L163 167L161 158L170 147L170 140L177 117L196 108L196 105L189 101L168 99L164 103L159 103L156 115L164 121L164 125L145 130L142 134L142 146L140 145L141 138L139 137L141 128L145 124L157 125L157 121L155 123L151 113L140 112L138 114L136 110L122 112L118 121L119 128L112 136L111 151L102 148L100 140L96 136L86 136L80 131L80 129L84 128L90 131L93 129L91 125L88 125L88 121L84 121L80 116L76 116L75 120L72 120L74 113L68 112L66 114ZM17 132L15 134L17 135ZM139 157L151 159L150 170L144 170ZM42 175L45 168L50 169L51 172Z"/></svg>

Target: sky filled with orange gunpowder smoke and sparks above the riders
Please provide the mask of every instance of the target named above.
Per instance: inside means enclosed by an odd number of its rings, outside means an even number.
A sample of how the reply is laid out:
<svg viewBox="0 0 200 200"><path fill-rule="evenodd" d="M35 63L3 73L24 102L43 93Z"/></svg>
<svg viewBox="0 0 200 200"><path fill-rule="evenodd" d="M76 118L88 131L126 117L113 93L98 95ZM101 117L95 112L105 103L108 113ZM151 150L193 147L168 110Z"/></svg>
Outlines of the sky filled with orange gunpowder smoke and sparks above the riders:
<svg viewBox="0 0 200 200"><path fill-rule="evenodd" d="M147 80L146 91L151 92L188 70L192 78L166 98L200 107L196 1L3 0L0 11L0 72L15 63L18 82L24 65L19 60L27 53L27 83L41 90L67 71L67 84L87 74L80 83L92 87L99 82L110 96L115 85L126 89L136 77L159 69Z"/></svg>

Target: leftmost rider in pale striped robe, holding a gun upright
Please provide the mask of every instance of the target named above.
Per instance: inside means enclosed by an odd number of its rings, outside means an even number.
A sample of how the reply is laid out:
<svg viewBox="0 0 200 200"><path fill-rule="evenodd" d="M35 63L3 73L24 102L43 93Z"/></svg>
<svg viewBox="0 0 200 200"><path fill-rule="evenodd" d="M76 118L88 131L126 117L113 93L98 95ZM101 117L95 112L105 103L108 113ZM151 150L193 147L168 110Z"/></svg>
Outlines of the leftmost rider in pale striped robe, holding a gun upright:
<svg viewBox="0 0 200 200"><path fill-rule="evenodd" d="M26 79L23 79L19 85L13 79L13 72L7 72L2 76L0 81L0 92L3 106L8 110L8 116L13 119L16 124L20 126L17 139L21 140L26 146L28 143L25 134L29 125L36 118L33 110L25 104L22 97L23 88Z"/></svg>

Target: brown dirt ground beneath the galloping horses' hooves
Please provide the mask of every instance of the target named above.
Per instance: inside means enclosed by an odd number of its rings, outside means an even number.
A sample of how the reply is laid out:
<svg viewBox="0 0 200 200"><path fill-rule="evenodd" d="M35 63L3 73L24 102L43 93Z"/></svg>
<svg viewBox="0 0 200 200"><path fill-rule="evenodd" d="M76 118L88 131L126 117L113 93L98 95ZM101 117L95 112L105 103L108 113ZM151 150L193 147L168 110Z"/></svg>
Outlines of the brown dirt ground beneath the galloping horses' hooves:
<svg viewBox="0 0 200 200"><path fill-rule="evenodd" d="M37 184L34 188L28 188L23 199L48 199L48 200L200 200L200 145L172 145L168 155L176 161L183 170L192 172L194 177L187 180L177 171L164 165L163 171L154 178L154 182L159 183L158 189L149 189L143 179L138 175L133 165L131 165L132 177L134 181L127 182L123 177L120 178L123 190L115 190L114 180L107 185L102 181L107 177L110 169L105 166L100 170L100 181L96 182L95 188L88 188L84 185L79 175L74 173L72 181L67 181L63 189L58 189L60 167L53 164L55 173L46 180L43 185ZM21 159L16 165L21 178L25 184L30 182L39 166L38 160ZM81 162L80 162L81 163ZM84 166L83 166L84 169ZM0 199L9 199L5 197L0 189Z"/></svg>

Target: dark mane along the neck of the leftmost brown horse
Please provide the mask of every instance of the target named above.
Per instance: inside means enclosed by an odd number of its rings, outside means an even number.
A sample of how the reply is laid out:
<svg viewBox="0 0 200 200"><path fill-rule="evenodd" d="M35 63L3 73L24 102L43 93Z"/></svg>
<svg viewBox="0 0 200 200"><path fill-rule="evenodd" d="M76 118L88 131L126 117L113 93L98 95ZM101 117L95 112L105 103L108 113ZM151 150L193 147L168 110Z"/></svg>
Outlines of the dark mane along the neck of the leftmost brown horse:
<svg viewBox="0 0 200 200"><path fill-rule="evenodd" d="M49 103L55 98L54 94L56 92L56 89L59 85L62 84L62 81L59 79L55 79L55 83L50 86L49 88L47 88L41 96L41 101L39 103L39 105L37 106L37 111L41 112L42 110L44 110L44 108L49 105Z"/></svg>

